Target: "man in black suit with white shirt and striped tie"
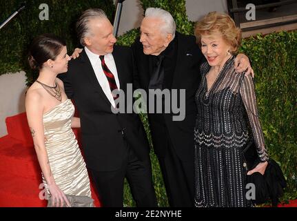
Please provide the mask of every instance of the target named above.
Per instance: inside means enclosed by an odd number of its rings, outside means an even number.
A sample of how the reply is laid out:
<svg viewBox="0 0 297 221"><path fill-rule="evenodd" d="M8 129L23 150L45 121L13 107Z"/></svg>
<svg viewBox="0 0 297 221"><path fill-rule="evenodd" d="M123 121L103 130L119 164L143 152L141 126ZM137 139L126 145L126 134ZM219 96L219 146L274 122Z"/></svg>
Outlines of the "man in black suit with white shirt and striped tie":
<svg viewBox="0 0 297 221"><path fill-rule="evenodd" d="M114 46L113 27L103 10L83 12L76 30L85 48L61 79L79 111L85 161L101 204L123 206L127 177L137 206L157 206L143 124L134 113L116 113L112 93L126 93L133 81L132 50Z"/></svg>

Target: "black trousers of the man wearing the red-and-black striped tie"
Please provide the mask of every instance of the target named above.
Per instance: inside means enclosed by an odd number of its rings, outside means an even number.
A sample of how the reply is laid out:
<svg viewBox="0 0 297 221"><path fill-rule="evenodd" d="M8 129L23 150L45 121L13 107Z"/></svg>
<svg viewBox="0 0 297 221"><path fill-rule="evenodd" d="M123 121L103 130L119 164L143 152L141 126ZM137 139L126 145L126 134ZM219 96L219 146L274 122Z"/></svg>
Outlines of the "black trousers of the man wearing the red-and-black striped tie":
<svg viewBox="0 0 297 221"><path fill-rule="evenodd" d="M150 160L145 162L140 161L132 148L129 146L127 146L123 165L119 170L90 171L96 190L99 193L99 200L102 206L123 206L123 188L125 177L130 185L136 206L157 206L156 194L154 192L154 185L152 182L152 167Z"/></svg>

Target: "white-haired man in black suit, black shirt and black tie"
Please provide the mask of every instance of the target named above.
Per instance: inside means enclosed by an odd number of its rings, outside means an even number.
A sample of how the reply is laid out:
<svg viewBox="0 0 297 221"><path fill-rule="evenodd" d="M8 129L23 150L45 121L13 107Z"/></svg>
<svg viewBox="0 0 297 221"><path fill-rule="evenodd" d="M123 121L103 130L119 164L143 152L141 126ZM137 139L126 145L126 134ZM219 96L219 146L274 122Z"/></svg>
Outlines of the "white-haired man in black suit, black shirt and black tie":
<svg viewBox="0 0 297 221"><path fill-rule="evenodd" d="M205 60L195 37L176 32L172 15L160 8L147 8L141 23L141 37L136 39L132 50L138 73L134 82L136 88L144 89L147 94L150 89L185 90L185 97L171 97L185 108L183 120L174 120L172 110L170 113L149 112L148 118L170 206L194 206L194 125L197 113L194 96L200 82L199 66ZM237 72L243 72L247 67L251 69L245 55L238 59ZM163 98L163 110L166 99L170 97Z"/></svg>

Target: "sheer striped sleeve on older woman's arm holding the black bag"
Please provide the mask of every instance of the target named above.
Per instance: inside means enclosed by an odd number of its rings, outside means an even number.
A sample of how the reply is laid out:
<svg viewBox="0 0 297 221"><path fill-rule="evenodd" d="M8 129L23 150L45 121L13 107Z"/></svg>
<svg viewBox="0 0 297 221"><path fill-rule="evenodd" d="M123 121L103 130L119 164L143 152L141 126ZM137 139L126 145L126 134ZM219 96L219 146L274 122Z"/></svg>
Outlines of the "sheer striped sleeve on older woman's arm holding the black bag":
<svg viewBox="0 0 297 221"><path fill-rule="evenodd" d="M257 146L258 156L261 162L269 160L267 150L265 148L263 131L260 126L258 117L258 108L256 104L256 95L254 90L254 82L251 75L243 76L242 85L240 86L240 95L249 117L249 124L252 128L254 142Z"/></svg>

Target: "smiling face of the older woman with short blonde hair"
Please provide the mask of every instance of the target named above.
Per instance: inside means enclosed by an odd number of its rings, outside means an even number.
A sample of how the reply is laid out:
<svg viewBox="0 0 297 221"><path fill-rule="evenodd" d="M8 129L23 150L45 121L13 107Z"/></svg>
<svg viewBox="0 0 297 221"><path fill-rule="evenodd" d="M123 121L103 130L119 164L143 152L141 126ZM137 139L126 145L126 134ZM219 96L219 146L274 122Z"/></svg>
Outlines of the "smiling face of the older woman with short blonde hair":
<svg viewBox="0 0 297 221"><path fill-rule="evenodd" d="M221 66L230 57L227 44L220 33L201 35L201 51L206 57L209 66Z"/></svg>

